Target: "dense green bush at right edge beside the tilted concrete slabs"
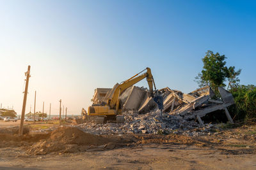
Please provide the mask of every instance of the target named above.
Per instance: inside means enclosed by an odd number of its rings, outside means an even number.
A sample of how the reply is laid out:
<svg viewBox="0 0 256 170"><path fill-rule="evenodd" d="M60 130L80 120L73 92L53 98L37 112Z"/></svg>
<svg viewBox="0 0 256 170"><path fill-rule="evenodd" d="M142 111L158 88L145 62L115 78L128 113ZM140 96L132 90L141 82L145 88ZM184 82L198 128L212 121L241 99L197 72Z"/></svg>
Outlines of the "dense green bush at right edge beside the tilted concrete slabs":
<svg viewBox="0 0 256 170"><path fill-rule="evenodd" d="M239 85L231 89L236 106L232 108L237 120L256 118L256 87L255 85Z"/></svg>

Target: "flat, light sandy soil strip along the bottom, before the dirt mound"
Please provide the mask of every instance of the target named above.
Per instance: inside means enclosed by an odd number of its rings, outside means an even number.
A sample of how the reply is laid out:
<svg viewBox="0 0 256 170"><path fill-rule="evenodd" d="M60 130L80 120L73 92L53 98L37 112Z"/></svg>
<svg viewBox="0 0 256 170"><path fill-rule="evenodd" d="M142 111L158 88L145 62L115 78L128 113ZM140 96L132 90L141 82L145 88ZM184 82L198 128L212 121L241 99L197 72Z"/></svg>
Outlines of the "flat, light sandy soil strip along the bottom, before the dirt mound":
<svg viewBox="0 0 256 170"><path fill-rule="evenodd" d="M230 148L232 150L232 148ZM237 149L236 149L237 150ZM0 169L255 169L255 154L221 148L148 144L108 151L19 157L19 148L1 148ZM4 154L3 154L4 153Z"/></svg>

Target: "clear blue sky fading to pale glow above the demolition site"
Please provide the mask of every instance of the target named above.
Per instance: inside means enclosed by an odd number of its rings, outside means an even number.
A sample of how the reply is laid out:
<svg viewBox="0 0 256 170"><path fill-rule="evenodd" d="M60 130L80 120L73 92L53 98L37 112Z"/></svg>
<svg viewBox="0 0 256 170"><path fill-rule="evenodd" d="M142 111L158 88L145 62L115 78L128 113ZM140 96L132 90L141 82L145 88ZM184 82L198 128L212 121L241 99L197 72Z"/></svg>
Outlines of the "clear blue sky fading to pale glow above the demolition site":
<svg viewBox="0 0 256 170"><path fill-rule="evenodd" d="M94 89L113 87L151 67L157 89L190 92L207 50L241 68L256 84L255 1L0 0L0 102L22 110L24 72L31 65L26 113L68 114L91 103ZM137 84L147 87L146 80Z"/></svg>

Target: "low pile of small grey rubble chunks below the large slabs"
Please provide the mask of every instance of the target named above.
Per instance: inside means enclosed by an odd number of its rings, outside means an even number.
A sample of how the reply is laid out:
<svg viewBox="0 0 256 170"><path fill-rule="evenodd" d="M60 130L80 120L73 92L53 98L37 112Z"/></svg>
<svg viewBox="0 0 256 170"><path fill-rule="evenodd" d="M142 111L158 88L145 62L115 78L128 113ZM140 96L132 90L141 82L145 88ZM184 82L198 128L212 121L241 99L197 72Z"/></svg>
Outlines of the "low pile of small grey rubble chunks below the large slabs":
<svg viewBox="0 0 256 170"><path fill-rule="evenodd" d="M184 120L179 115L168 115L160 112L150 112L139 114L138 112L127 111L123 113L125 117L124 124L106 123L96 124L87 122L76 125L84 132L91 134L125 134L125 133L148 133L148 134L185 134L200 135L209 132L211 125L207 125L198 131L200 124L193 121ZM192 134L193 131L197 131Z"/></svg>

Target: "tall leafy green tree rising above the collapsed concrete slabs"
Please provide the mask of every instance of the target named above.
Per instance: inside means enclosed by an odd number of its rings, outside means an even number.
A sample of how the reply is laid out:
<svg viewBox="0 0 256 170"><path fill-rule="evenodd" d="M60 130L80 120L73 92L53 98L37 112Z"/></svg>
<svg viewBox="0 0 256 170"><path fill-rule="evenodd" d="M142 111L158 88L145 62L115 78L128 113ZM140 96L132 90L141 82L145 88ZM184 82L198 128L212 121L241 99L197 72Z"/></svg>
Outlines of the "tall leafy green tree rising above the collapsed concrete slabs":
<svg viewBox="0 0 256 170"><path fill-rule="evenodd" d="M216 94L219 94L218 87L225 87L225 81L228 80L228 87L236 87L239 84L239 74L241 69L235 71L235 67L227 67L225 55L220 53L213 53L208 50L205 57L202 59L204 66L198 76L195 77L195 81L199 87L205 87L209 85Z"/></svg>

